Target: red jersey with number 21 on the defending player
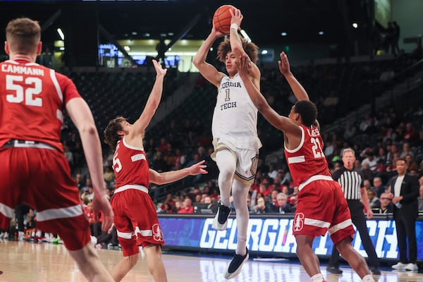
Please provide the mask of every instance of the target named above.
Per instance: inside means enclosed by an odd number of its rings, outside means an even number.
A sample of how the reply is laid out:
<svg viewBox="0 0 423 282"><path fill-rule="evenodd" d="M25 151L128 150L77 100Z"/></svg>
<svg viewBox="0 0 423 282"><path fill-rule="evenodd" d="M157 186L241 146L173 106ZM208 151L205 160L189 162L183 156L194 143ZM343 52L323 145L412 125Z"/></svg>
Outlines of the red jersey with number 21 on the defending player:
<svg viewBox="0 0 423 282"><path fill-rule="evenodd" d="M300 145L286 149L285 157L295 185L300 185L311 176L331 176L323 153L323 140L319 130L312 125L300 125L302 136Z"/></svg>

